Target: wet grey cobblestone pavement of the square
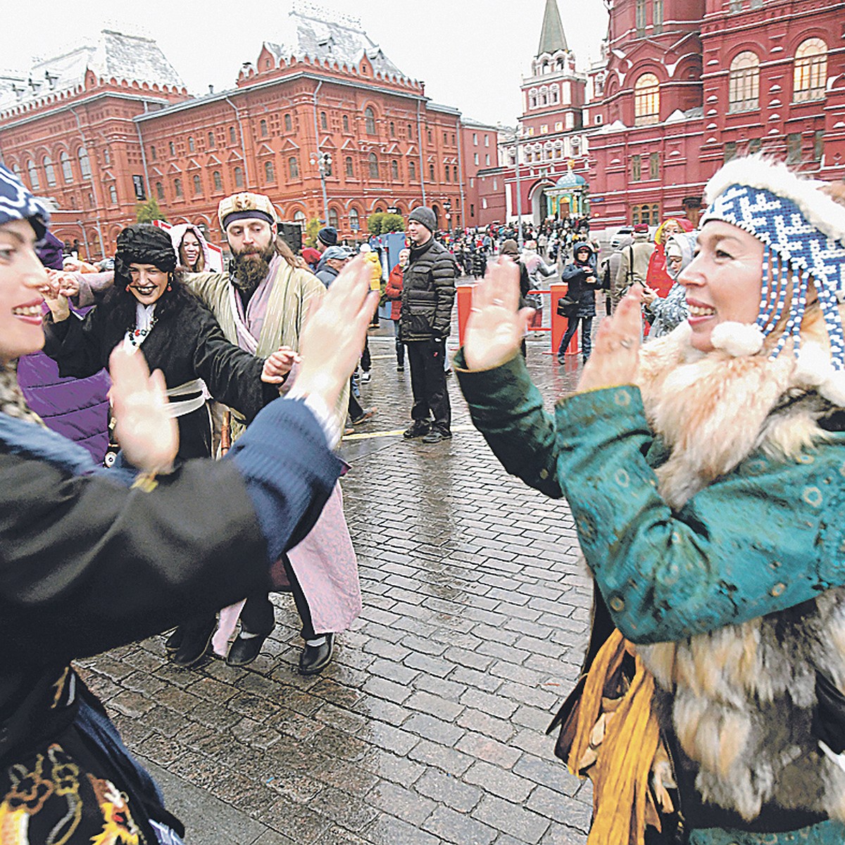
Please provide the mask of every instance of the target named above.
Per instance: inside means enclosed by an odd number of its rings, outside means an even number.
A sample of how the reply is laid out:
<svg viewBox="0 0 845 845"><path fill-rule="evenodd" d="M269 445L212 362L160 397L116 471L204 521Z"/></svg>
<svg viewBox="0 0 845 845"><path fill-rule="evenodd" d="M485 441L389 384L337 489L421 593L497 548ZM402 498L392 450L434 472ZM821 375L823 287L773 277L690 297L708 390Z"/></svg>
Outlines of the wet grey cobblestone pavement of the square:
<svg viewBox="0 0 845 845"><path fill-rule="evenodd" d="M388 330L389 331L389 330ZM410 373L371 336L379 412L346 441L363 614L322 675L294 672L290 597L245 669L168 664L163 637L82 662L188 845L586 841L589 787L544 735L575 681L589 582L570 512L505 474L450 379L455 437L401 438ZM548 401L571 390L529 344Z"/></svg>

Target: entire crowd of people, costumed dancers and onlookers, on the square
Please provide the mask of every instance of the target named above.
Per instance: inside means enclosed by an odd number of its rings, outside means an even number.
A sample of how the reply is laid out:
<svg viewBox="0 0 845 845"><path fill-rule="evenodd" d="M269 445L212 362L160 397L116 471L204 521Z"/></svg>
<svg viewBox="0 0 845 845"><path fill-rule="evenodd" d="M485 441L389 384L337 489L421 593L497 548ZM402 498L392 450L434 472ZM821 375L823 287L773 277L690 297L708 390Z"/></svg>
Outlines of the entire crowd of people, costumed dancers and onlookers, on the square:
<svg viewBox="0 0 845 845"><path fill-rule="evenodd" d="M384 297L404 436L448 441L462 269L472 421L567 499L595 586L553 722L590 842L842 842L845 191L751 158L706 194L697 227L634 226L603 260L586 220L439 232L419 206L388 267L330 226L294 254L242 192L226 270L189 224L127 226L89 266L0 166L0 841L182 842L75 658L170 630L179 667L245 666L285 590L299 672L330 663L362 608L337 450L375 413L368 329ZM550 416L525 339L555 274L583 368Z"/></svg>

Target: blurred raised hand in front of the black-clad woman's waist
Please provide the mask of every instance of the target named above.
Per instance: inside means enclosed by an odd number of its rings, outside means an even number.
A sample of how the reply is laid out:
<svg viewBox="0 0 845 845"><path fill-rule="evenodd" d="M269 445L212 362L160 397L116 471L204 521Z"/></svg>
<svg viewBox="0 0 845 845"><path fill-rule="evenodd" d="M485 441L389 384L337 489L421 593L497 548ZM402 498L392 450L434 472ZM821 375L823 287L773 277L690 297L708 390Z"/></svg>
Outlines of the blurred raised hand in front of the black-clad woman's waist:
<svg viewBox="0 0 845 845"><path fill-rule="evenodd" d="M126 460L141 472L170 472L179 432L161 370L150 375L144 353L122 343L109 358L109 373L115 433Z"/></svg>

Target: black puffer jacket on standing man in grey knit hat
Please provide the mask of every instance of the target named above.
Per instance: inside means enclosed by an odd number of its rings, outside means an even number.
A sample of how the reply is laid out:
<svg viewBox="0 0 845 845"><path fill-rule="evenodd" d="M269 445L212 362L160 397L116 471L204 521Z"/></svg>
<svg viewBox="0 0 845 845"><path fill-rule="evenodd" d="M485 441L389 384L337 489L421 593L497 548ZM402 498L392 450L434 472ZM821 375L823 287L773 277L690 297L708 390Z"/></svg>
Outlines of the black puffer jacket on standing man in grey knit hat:
<svg viewBox="0 0 845 845"><path fill-rule="evenodd" d="M455 259L434 238L412 248L402 284L402 341L449 336L456 275Z"/></svg>

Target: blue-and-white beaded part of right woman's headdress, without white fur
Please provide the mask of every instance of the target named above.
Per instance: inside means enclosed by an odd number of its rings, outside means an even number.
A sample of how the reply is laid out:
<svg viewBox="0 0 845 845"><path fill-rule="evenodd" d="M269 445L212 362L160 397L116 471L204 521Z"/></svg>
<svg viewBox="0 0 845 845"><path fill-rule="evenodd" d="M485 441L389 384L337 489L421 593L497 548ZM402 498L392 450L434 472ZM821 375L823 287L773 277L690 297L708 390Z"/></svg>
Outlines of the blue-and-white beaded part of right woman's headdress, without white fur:
<svg viewBox="0 0 845 845"><path fill-rule="evenodd" d="M702 218L702 224L721 220L749 232L764 245L763 284L756 325L771 333L786 308L788 273L793 278L786 328L771 357L777 357L788 338L797 354L801 320L807 305L810 280L818 293L831 341L831 363L845 368L845 338L838 303L845 301L845 243L820 232L792 199L767 188L733 184L722 191Z"/></svg>

